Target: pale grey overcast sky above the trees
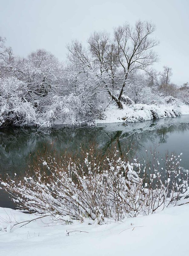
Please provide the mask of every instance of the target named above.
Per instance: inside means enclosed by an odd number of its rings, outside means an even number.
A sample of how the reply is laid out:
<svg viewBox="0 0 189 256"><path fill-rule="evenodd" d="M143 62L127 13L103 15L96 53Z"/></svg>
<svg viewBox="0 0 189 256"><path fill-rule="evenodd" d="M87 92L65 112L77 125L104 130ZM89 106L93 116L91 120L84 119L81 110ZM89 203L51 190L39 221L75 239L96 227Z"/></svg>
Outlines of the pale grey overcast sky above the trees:
<svg viewBox="0 0 189 256"><path fill-rule="evenodd" d="M66 59L66 43L86 42L94 30L113 31L125 21L156 24L156 51L172 82L189 82L189 0L0 0L0 35L16 55L44 48Z"/></svg>

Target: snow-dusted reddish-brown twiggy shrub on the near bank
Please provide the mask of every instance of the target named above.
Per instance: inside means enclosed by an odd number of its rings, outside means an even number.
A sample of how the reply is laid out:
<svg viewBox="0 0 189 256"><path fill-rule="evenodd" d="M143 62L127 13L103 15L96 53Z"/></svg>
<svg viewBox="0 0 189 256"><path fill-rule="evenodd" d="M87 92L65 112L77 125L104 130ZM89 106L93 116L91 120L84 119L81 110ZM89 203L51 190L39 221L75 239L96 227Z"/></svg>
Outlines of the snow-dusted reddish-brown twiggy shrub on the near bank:
<svg viewBox="0 0 189 256"><path fill-rule="evenodd" d="M180 161L167 154L150 168L136 159L127 162L117 151L99 160L91 149L84 160L66 155L57 161L41 159L34 176L7 177L1 186L22 210L65 223L89 219L102 224L188 202L188 174L181 172Z"/></svg>

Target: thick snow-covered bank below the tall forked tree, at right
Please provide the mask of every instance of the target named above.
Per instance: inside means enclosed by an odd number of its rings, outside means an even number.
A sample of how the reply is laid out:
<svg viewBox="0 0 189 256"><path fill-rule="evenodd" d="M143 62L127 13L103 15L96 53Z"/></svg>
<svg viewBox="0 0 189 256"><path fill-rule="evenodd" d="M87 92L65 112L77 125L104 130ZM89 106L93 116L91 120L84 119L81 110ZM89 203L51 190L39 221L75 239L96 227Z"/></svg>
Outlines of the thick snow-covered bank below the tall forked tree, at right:
<svg viewBox="0 0 189 256"><path fill-rule="evenodd" d="M95 120L96 123L119 123L119 122L141 122L164 117L176 117L189 114L187 105L146 105L134 104L124 105L123 109L118 109L116 105L110 105L105 110L104 120Z"/></svg>

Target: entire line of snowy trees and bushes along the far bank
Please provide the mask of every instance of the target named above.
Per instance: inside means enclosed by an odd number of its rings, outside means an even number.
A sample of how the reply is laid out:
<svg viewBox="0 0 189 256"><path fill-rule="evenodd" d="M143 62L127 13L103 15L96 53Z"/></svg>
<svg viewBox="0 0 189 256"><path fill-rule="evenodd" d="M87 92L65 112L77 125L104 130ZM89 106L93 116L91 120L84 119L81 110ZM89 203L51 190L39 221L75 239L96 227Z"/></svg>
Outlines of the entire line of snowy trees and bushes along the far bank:
<svg viewBox="0 0 189 256"><path fill-rule="evenodd" d="M160 105L166 96L188 104L188 83L172 84L170 67L152 69L159 43L154 31L151 22L137 21L113 35L94 32L87 48L77 40L67 45L65 63L41 49L15 56L0 37L0 126L93 122L110 104Z"/></svg>

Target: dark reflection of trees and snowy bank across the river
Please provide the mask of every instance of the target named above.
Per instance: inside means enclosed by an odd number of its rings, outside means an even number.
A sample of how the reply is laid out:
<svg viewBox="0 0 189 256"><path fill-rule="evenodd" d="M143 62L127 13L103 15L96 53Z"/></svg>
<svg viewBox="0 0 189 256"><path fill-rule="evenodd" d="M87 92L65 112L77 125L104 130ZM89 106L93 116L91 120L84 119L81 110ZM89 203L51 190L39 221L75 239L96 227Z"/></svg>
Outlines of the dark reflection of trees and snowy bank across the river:
<svg viewBox="0 0 189 256"><path fill-rule="evenodd" d="M142 126L142 128L141 128ZM116 146L120 156L128 151L128 158L144 152L144 145L166 143L169 133L185 132L189 130L189 123L149 123L131 125L111 125L102 127L52 129L38 128L4 128L0 129L0 159L2 173L25 172L29 163L35 158L36 152L51 150L52 145L57 152L65 150L75 154L82 146L85 149L91 144L106 152ZM174 150L174 149L173 149Z"/></svg>

